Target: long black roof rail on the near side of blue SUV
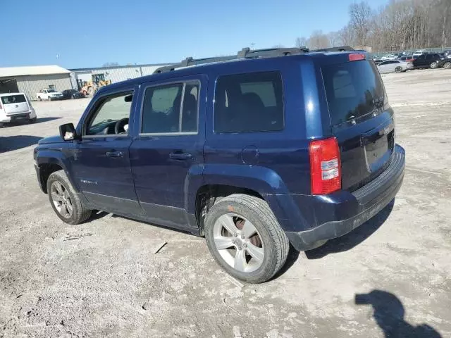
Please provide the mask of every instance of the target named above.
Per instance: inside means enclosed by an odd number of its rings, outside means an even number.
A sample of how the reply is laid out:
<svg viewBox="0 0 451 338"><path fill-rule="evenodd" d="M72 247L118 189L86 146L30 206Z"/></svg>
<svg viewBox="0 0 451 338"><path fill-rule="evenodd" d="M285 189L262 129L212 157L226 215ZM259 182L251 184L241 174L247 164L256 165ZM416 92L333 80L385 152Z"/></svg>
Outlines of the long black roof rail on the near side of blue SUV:
<svg viewBox="0 0 451 338"><path fill-rule="evenodd" d="M165 65L163 67L157 68L155 73L166 73L177 68L188 67L190 65L204 65L206 63L220 62L236 60L240 58L272 58L276 56L287 56L293 54L304 54L308 53L309 49L307 47L301 48L271 48L271 49L249 49L249 47L243 48L236 55L233 56L217 56L214 58L197 58L192 57L185 58L185 60L180 63L175 63L173 65Z"/></svg>

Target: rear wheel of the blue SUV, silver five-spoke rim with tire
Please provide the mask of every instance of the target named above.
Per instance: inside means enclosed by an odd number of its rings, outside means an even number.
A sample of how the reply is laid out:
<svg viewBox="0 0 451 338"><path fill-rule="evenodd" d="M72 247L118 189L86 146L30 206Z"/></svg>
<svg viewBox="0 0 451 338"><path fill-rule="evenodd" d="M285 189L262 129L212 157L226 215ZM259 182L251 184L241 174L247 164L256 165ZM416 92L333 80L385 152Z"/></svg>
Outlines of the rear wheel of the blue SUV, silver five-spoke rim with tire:
<svg viewBox="0 0 451 338"><path fill-rule="evenodd" d="M211 207L205 239L216 262L249 283L273 277L285 264L290 247L268 204L245 194L227 196Z"/></svg>

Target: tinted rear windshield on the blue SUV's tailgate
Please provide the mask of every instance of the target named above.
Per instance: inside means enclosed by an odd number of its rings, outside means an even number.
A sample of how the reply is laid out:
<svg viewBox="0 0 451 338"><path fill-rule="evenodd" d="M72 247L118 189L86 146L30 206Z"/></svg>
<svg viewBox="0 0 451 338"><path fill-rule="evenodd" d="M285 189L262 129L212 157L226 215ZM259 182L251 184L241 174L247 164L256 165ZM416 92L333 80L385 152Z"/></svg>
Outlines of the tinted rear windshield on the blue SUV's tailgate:
<svg viewBox="0 0 451 338"><path fill-rule="evenodd" d="M330 122L338 125L381 108L385 91L372 61L352 61L321 68Z"/></svg>

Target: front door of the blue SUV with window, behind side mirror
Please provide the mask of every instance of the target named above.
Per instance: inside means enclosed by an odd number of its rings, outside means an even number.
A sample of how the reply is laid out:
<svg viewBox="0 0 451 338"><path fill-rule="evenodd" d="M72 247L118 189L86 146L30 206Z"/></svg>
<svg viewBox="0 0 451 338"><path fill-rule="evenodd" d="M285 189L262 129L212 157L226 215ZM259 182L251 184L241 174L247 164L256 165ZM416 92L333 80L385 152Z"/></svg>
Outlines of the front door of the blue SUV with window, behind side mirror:
<svg viewBox="0 0 451 338"><path fill-rule="evenodd" d="M75 142L72 175L102 211L142 214L130 171L128 119L134 101L132 89L99 96L85 116L82 139Z"/></svg>

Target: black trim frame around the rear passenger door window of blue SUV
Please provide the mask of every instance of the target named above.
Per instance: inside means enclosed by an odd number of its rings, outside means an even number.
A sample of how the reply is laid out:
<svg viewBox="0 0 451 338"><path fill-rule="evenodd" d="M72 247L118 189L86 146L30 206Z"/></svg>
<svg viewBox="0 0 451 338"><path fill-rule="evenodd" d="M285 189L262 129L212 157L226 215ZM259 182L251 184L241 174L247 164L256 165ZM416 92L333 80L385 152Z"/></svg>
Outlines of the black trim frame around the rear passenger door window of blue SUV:
<svg viewBox="0 0 451 338"><path fill-rule="evenodd" d="M197 132L141 132L142 131L142 118L144 116L144 98L146 96L146 91L149 88L156 88L156 87L166 87L170 86L171 84L183 84L182 88L182 96L180 97L180 115L178 116L178 127L180 130L181 127L181 120L183 118L182 112L183 112L183 101L185 100L185 87L187 84L198 84L199 89L197 89ZM138 133L138 136L185 136L185 135L197 135L199 134L199 103L200 103L200 92L201 92L201 86L202 81L199 79L188 79L188 80L181 80L181 79L174 79L167 82L159 82L159 83L151 83L146 84L145 86L142 86L142 98L141 98L141 104L140 104L140 127L138 130L140 132Z"/></svg>

